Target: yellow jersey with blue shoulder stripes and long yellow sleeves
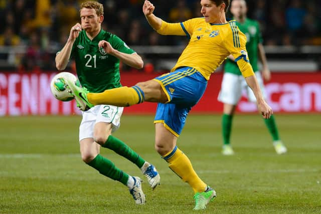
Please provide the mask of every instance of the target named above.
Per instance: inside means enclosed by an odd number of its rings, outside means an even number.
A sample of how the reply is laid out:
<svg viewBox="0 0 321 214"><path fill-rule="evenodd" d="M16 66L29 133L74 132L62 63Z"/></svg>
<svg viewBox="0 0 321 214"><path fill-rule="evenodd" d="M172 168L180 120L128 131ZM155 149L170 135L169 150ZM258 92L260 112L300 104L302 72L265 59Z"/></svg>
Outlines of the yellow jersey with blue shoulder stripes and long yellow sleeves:
<svg viewBox="0 0 321 214"><path fill-rule="evenodd" d="M245 48L246 36L239 31L235 20L225 24L206 23L204 18L182 23L162 21L156 31L162 35L186 35L190 39L171 72L179 67L192 67L209 80L227 56L233 55L244 77L254 75Z"/></svg>

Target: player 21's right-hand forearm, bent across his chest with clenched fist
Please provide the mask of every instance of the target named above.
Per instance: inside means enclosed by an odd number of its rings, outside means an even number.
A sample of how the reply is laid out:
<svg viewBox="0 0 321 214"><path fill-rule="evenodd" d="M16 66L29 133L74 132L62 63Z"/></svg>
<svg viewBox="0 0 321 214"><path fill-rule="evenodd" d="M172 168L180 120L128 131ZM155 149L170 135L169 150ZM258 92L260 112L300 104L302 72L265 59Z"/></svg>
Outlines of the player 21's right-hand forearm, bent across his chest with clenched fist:
<svg viewBox="0 0 321 214"><path fill-rule="evenodd" d="M129 65L130 67L141 69L144 66L144 63L141 57L137 53L126 54L126 53L120 52L114 49L110 45L110 43L105 40L101 40L98 43L98 47L103 48L107 54L110 54L118 58L120 61L122 61L126 65Z"/></svg>

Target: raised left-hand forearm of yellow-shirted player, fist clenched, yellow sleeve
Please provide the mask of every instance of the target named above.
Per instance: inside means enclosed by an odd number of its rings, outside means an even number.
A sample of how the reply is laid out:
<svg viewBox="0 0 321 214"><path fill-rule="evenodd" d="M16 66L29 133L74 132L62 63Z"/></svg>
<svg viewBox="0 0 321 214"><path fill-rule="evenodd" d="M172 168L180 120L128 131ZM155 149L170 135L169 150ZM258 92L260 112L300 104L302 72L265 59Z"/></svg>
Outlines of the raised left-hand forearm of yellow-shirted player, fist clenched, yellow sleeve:
<svg viewBox="0 0 321 214"><path fill-rule="evenodd" d="M185 36L184 25L182 23L167 23L161 18L153 15L155 7L149 1L145 0L142 7L143 14L148 22L148 24L161 35L177 35Z"/></svg>

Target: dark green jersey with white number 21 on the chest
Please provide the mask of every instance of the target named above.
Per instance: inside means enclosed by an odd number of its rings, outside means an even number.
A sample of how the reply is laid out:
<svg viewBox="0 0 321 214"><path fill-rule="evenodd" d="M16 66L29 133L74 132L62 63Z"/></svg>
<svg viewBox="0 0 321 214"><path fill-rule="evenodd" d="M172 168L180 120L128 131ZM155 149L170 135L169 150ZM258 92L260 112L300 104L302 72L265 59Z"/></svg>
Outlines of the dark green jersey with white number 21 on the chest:
<svg viewBox="0 0 321 214"><path fill-rule="evenodd" d="M135 53L119 37L102 29L93 40L87 37L84 30L79 33L72 47L71 58L75 59L80 84L96 93L121 87L119 59L98 48L101 40L109 42L119 52Z"/></svg>

